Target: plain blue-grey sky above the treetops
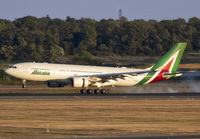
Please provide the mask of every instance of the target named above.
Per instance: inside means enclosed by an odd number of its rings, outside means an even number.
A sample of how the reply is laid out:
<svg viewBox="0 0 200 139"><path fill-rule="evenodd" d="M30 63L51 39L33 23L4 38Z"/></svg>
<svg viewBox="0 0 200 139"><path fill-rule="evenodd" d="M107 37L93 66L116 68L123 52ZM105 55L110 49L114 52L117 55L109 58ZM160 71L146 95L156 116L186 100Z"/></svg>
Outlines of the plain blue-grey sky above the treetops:
<svg viewBox="0 0 200 139"><path fill-rule="evenodd" d="M119 9L129 21L200 18L200 0L0 0L0 19L24 16L118 19Z"/></svg>

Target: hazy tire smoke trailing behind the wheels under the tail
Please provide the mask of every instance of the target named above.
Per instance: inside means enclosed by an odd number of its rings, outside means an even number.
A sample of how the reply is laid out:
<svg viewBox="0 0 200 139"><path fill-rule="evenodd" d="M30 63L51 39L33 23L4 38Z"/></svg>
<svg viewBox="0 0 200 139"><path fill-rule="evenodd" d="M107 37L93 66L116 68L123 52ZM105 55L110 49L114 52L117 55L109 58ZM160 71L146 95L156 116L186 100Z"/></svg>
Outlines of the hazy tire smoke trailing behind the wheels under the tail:
<svg viewBox="0 0 200 139"><path fill-rule="evenodd" d="M183 73L169 80L133 87L115 87L116 93L200 93L200 71Z"/></svg>

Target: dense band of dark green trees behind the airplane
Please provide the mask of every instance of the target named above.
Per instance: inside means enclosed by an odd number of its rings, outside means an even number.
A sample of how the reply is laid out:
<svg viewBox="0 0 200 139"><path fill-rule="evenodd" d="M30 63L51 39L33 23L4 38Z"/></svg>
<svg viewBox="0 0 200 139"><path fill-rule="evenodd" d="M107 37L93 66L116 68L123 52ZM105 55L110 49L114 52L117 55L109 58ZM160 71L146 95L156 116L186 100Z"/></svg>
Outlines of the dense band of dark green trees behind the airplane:
<svg viewBox="0 0 200 139"><path fill-rule="evenodd" d="M27 16L0 19L0 59L54 62L60 56L88 53L106 55L163 55L177 42L200 50L200 19L76 20Z"/></svg>

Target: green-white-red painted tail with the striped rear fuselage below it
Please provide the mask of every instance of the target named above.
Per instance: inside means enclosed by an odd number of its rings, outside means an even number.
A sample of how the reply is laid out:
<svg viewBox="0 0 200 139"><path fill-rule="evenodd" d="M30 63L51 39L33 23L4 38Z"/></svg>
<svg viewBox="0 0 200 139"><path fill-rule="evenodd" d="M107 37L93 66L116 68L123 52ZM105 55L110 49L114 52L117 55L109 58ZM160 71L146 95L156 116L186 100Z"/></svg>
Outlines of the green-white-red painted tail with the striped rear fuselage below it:
<svg viewBox="0 0 200 139"><path fill-rule="evenodd" d="M148 73L136 85L158 82L168 79L170 77L175 77L177 74L176 71L178 69L178 65L181 61L186 45L187 43L177 43L160 61L158 61L154 66L149 68L153 72ZM169 76L165 76L166 73Z"/></svg>

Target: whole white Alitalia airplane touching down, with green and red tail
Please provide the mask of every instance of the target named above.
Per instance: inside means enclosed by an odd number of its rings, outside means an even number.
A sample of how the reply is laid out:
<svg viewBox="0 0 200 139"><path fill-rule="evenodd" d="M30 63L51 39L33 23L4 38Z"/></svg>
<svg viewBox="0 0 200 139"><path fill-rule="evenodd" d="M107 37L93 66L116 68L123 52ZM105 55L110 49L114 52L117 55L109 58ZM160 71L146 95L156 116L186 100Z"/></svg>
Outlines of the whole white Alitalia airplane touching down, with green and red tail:
<svg viewBox="0 0 200 139"><path fill-rule="evenodd" d="M181 76L177 68L186 45L177 43L160 61L146 69L25 62L10 66L5 73L22 79L23 88L26 80L31 80L47 82L48 87L82 88L82 94L103 94L105 86L137 86ZM90 86L97 89L88 89Z"/></svg>

